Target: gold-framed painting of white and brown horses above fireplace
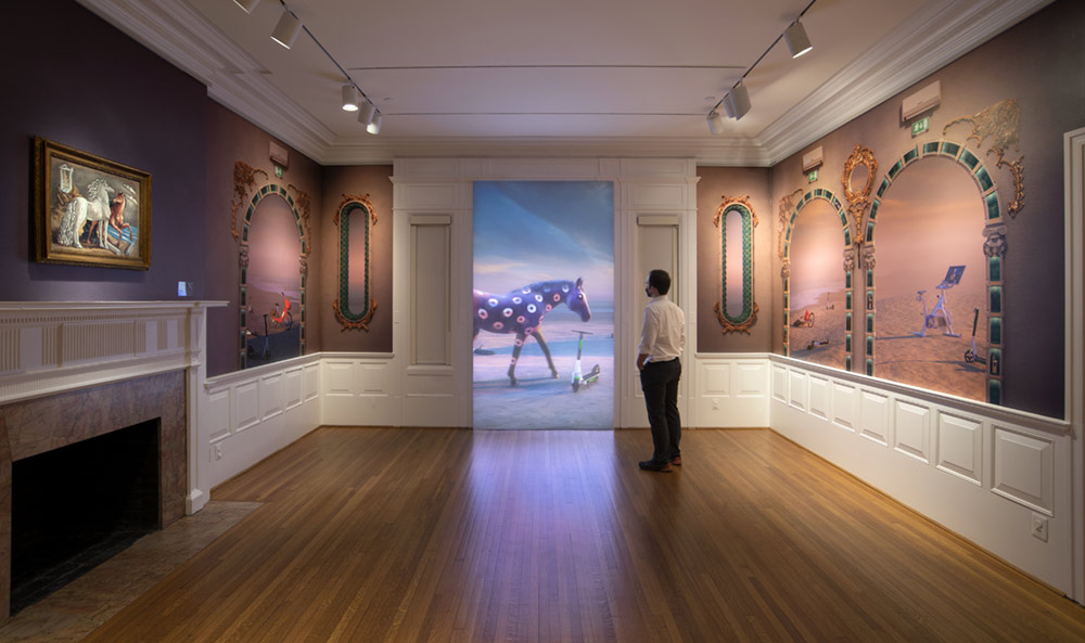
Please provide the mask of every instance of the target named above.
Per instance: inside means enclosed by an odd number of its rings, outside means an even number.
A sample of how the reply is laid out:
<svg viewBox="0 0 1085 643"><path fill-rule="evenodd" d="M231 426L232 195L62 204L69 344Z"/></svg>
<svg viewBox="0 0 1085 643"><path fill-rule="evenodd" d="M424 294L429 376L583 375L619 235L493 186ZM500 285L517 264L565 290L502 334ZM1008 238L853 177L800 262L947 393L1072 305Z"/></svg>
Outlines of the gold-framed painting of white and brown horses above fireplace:
<svg viewBox="0 0 1085 643"><path fill-rule="evenodd" d="M151 267L151 175L34 138L34 247L43 263Z"/></svg>

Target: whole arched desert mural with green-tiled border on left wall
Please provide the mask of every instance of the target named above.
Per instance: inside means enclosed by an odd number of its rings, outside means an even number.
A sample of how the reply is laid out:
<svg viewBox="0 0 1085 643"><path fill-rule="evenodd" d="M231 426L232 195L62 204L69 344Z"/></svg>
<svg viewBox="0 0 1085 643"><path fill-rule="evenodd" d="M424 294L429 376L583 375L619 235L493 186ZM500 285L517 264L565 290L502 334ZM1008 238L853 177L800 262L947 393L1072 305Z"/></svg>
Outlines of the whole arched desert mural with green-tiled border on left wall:
<svg viewBox="0 0 1085 643"><path fill-rule="evenodd" d="M309 195L294 185L259 185L267 172L238 160L230 230L241 244L240 365L305 353L305 281L309 257ZM238 229L238 210L248 194ZM259 216L257 216L259 215Z"/></svg>

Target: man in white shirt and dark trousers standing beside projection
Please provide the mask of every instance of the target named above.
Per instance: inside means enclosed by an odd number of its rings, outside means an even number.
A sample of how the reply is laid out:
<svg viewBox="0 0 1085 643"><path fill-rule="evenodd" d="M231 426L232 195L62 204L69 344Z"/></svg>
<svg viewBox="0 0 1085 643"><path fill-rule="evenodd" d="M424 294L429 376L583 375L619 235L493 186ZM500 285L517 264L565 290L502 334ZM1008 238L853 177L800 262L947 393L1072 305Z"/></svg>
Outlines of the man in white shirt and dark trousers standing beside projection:
<svg viewBox="0 0 1085 643"><path fill-rule="evenodd" d="M644 283L651 301L644 307L644 324L640 332L637 369L640 388L644 391L648 422L652 427L651 460L640 468L669 473L681 464L678 442L681 440L681 417L678 415L678 381L686 346L686 316L678 305L667 299L671 275L666 270L652 270Z"/></svg>

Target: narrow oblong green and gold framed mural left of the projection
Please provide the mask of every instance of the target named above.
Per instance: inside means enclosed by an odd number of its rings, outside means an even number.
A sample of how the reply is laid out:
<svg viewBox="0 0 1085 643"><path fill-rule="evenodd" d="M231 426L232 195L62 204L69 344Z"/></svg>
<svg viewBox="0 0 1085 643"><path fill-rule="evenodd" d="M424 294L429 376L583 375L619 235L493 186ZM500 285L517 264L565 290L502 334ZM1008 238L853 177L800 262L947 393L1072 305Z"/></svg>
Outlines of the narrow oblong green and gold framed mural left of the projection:
<svg viewBox="0 0 1085 643"><path fill-rule="evenodd" d="M369 194L344 194L332 222L340 229L339 296L332 301L332 309L343 331L368 331L376 311L376 299L369 295L369 244L376 224L376 211Z"/></svg>

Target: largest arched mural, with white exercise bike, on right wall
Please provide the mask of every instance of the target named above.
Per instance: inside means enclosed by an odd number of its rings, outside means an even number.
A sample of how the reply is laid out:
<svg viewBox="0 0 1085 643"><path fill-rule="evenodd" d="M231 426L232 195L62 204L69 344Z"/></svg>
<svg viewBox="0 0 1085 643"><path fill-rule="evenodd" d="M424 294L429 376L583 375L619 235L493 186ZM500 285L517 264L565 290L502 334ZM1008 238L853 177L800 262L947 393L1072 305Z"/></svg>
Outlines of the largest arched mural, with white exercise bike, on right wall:
<svg viewBox="0 0 1085 643"><path fill-rule="evenodd" d="M950 125L960 121L961 119L957 119ZM978 144L982 140L973 139ZM1017 132L1003 133L996 140L1016 141ZM1005 150L998 152L999 162L1003 152ZM953 172L930 168L930 175L921 189L906 190L911 195L911 204L903 207L905 216L910 219L908 227L922 232L928 242L936 242L928 243L927 248L919 253L921 262L917 262L928 268L926 281L930 283L926 285L926 292L920 292L923 285L916 290L917 306L921 306L921 312L918 317L914 316L918 329L912 331L914 339L909 338L908 342L914 344L916 340L940 335L936 342L928 342L940 348L928 346L921 349L919 356L922 357L917 356L912 362L915 365L908 372L894 373L890 370L889 376L926 388L1000 404L1004 397L1001 363L1005 359L1003 280L1007 249L1006 226L1001 221L998 187L979 157L968 150L967 143L939 140L919 144L906 152L882 180L878 197L871 206L864 241L873 247L876 223L883 200L905 168L919 167L920 164L929 167L930 162L936 158L950 162L957 170L965 170L963 176L970 178L970 188L955 189L952 185ZM1004 165L1017 167L1016 170L1011 169L1014 180L1023 176L1023 158ZM917 198L923 198L922 194L917 193L930 195L940 192L942 197L935 197L935 202L926 206L916 202ZM971 205L962 203L968 192L973 201ZM1023 187L1016 187L1014 194L1013 203L1020 208L1024 202ZM885 203L890 202L886 200ZM939 206L941 210L936 209ZM926 230L923 221L927 222ZM895 233L886 235L898 239ZM915 248L911 249L911 255L916 256ZM934 266L937 266L940 272L937 279L933 275ZM969 270L969 267L972 269ZM943 269L944 274L941 272ZM872 270L871 267L871 282L867 286L867 296L871 298L875 297ZM920 279L920 273L917 272L916 277ZM891 314L885 317L892 318ZM888 339L897 335L886 331L879 336ZM876 371L876 365L882 360L875 358L875 337L871 320L867 337L867 372L886 376L880 370ZM972 374L974 376L970 376Z"/></svg>

